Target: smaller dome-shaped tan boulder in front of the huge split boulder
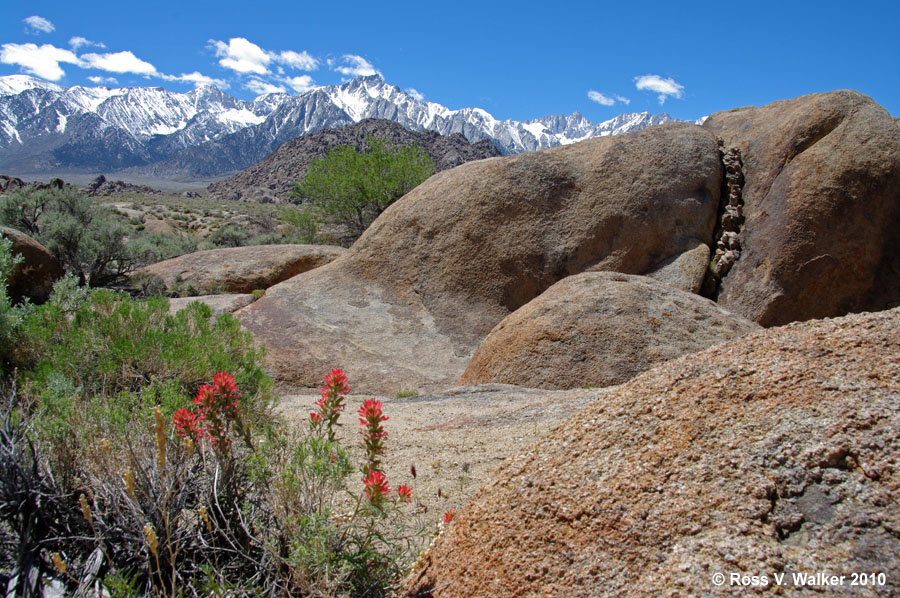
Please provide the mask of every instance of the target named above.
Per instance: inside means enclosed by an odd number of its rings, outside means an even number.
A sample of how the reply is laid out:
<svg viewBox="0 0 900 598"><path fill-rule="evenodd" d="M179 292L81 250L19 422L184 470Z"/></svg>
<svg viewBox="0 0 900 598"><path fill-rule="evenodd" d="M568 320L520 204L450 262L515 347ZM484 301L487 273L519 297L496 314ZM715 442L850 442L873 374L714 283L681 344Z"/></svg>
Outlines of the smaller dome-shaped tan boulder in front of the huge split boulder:
<svg viewBox="0 0 900 598"><path fill-rule="evenodd" d="M759 328L645 276L585 272L559 281L497 324L458 383L612 386Z"/></svg>

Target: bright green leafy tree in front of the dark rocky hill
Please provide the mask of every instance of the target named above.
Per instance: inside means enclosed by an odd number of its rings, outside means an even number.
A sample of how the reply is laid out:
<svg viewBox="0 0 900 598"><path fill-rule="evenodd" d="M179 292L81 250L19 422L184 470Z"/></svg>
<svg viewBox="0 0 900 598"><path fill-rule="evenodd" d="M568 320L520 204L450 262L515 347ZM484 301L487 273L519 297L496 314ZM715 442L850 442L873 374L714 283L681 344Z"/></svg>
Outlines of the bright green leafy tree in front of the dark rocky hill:
<svg viewBox="0 0 900 598"><path fill-rule="evenodd" d="M292 197L309 199L358 237L393 201L432 174L434 162L419 146L390 147L384 139L369 136L364 152L342 145L310 162Z"/></svg>

